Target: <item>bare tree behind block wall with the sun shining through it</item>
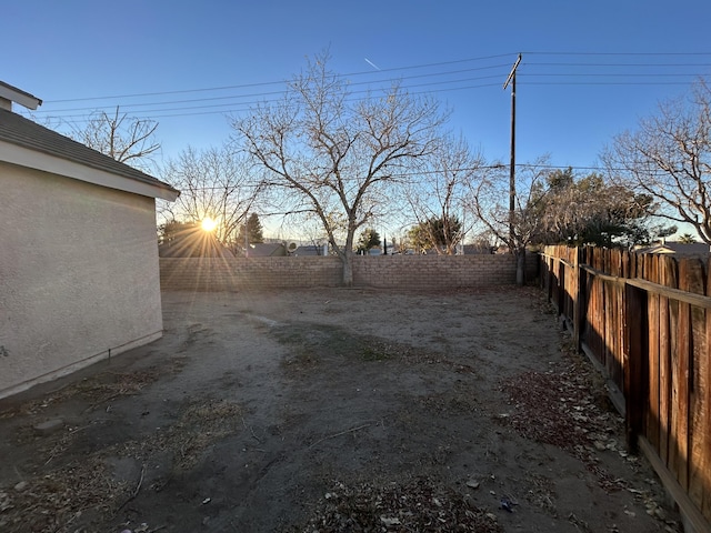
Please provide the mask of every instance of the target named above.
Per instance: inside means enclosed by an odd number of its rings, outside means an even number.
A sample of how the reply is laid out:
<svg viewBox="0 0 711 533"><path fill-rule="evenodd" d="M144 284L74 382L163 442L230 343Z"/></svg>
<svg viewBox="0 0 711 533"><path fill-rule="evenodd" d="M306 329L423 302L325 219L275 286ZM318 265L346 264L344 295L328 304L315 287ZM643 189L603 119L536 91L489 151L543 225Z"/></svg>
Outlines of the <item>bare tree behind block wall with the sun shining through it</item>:
<svg viewBox="0 0 711 533"><path fill-rule="evenodd" d="M211 219L217 223L216 238L227 247L236 244L241 225L254 207L259 184L234 151L227 145L203 151L188 147L168 161L163 179L181 191L169 208L174 220Z"/></svg>

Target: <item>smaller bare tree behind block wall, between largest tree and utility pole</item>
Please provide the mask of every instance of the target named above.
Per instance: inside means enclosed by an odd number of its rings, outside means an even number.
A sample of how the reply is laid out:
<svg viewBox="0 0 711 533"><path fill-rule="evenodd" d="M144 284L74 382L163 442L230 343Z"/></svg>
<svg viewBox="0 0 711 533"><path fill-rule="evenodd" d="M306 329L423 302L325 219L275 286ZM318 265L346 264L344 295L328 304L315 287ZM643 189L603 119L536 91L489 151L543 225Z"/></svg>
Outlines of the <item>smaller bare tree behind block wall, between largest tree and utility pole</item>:
<svg viewBox="0 0 711 533"><path fill-rule="evenodd" d="M447 137L422 163L420 175L405 189L418 221L417 233L438 254L453 255L471 229L463 225L464 205L483 158L473 153L463 138Z"/></svg>

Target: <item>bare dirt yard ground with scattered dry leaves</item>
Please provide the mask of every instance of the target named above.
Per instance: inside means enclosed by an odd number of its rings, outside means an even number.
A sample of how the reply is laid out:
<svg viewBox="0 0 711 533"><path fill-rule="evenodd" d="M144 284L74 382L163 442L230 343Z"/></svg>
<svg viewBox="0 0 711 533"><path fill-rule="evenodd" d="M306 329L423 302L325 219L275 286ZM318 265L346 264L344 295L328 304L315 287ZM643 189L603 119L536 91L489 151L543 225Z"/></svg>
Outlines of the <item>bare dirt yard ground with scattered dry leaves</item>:
<svg viewBox="0 0 711 533"><path fill-rule="evenodd" d="M681 531L534 289L163 310L163 339L0 401L0 531Z"/></svg>

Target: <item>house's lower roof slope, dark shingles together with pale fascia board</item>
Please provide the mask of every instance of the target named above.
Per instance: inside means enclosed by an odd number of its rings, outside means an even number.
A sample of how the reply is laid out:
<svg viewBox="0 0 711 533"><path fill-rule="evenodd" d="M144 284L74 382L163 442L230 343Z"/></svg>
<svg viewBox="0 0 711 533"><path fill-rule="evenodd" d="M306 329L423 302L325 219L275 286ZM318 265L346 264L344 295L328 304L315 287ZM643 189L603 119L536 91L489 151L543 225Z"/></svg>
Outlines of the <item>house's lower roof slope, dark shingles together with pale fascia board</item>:
<svg viewBox="0 0 711 533"><path fill-rule="evenodd" d="M9 145L19 150L11 150ZM91 168L99 173L76 172L77 169L70 171L69 167L63 169L57 164L57 160L42 161L37 158L37 152L59 158L67 163ZM7 109L0 109L0 161L163 200L173 201L180 194L180 191L168 183ZM128 181L117 183L110 177L103 175L104 172Z"/></svg>

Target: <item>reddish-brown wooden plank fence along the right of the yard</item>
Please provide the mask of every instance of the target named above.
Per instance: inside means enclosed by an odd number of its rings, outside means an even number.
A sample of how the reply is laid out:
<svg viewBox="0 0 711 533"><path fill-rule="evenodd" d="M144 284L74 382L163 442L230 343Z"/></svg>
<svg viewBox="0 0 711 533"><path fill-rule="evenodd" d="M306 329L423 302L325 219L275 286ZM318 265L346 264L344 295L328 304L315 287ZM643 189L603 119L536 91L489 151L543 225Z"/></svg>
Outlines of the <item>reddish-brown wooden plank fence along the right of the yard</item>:
<svg viewBox="0 0 711 533"><path fill-rule="evenodd" d="M711 532L711 262L549 247L541 285L608 379L628 444Z"/></svg>

